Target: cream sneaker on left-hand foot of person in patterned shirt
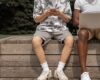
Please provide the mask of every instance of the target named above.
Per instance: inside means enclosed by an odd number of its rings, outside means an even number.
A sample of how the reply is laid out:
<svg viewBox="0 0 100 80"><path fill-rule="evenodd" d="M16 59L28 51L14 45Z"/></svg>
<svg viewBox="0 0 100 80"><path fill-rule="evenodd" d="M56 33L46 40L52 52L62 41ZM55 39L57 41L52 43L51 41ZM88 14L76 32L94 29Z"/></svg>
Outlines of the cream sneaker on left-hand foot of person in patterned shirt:
<svg viewBox="0 0 100 80"><path fill-rule="evenodd" d="M52 77L51 70L49 71L42 71L40 76L37 78L37 80L47 80Z"/></svg>

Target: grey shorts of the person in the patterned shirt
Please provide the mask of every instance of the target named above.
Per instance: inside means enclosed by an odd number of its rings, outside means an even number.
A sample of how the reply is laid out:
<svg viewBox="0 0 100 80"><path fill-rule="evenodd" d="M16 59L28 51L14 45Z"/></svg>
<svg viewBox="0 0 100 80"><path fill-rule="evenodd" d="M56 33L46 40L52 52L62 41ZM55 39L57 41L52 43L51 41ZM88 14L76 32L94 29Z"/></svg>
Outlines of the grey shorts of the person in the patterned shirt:
<svg viewBox="0 0 100 80"><path fill-rule="evenodd" d="M59 32L47 32L47 31L40 31L37 30L33 37L39 36L44 40L44 44L48 43L52 38L58 40L59 42L63 42L64 39L68 36L72 36L69 30L59 31Z"/></svg>

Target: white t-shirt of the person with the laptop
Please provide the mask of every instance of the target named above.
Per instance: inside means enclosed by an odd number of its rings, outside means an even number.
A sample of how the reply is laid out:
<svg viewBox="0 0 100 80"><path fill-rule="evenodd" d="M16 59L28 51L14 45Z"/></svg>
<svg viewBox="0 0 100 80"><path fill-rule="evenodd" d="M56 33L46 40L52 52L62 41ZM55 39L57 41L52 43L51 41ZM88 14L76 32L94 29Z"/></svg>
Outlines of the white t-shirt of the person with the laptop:
<svg viewBox="0 0 100 80"><path fill-rule="evenodd" d="M81 12L100 12L100 0L76 0L74 9Z"/></svg>

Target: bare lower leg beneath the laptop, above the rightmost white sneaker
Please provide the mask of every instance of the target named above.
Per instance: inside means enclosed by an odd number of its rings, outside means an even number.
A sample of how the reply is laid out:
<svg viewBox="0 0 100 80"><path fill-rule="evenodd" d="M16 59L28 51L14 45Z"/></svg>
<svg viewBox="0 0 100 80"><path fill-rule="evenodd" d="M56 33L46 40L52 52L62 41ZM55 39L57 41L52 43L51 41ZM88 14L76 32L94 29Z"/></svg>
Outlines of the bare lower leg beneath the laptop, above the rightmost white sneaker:
<svg viewBox="0 0 100 80"><path fill-rule="evenodd" d="M81 71L86 72L86 59L87 59L87 49L88 49L88 38L89 32L85 29L82 29L78 33L78 53L80 57Z"/></svg>

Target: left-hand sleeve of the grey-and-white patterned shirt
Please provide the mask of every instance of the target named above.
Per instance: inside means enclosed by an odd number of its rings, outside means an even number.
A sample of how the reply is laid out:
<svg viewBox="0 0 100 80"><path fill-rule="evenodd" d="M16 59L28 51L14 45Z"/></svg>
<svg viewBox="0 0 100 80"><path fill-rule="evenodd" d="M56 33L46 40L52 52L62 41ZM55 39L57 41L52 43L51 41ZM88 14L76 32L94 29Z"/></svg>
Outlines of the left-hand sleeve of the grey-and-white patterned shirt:
<svg viewBox="0 0 100 80"><path fill-rule="evenodd" d="M33 8L33 18L35 19L37 16L42 14L42 6L40 0L34 0L34 8Z"/></svg>

